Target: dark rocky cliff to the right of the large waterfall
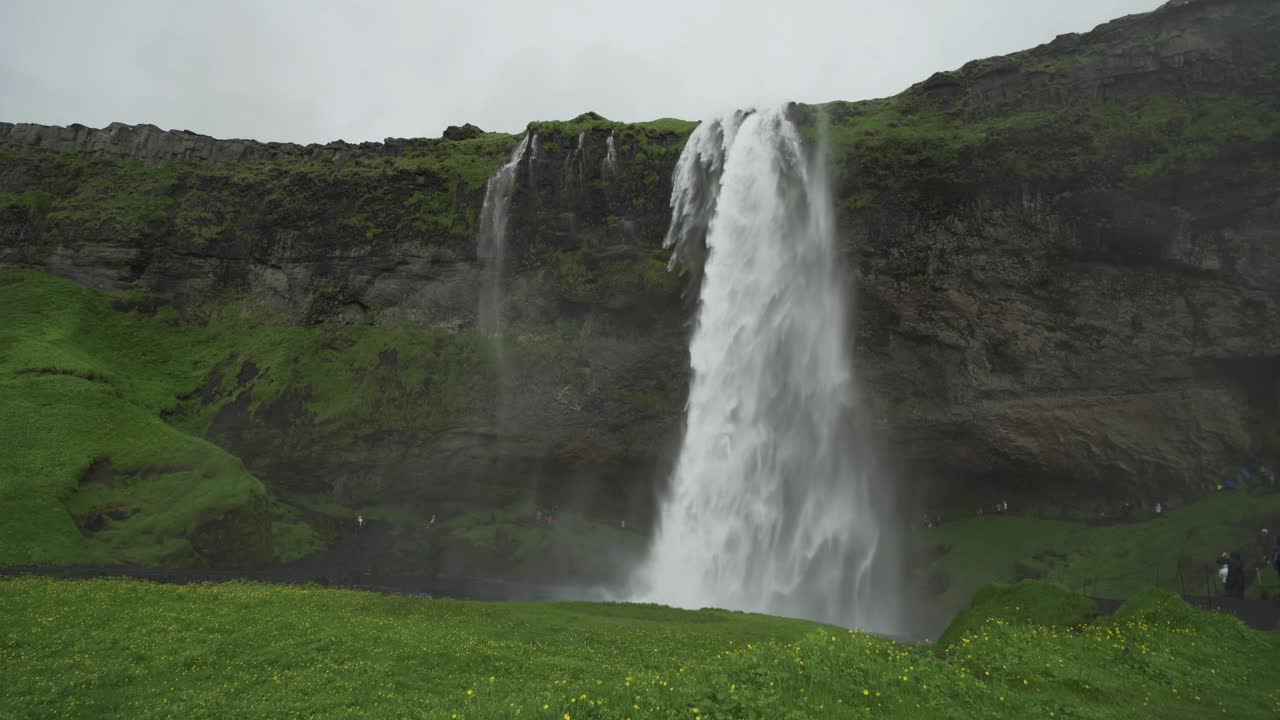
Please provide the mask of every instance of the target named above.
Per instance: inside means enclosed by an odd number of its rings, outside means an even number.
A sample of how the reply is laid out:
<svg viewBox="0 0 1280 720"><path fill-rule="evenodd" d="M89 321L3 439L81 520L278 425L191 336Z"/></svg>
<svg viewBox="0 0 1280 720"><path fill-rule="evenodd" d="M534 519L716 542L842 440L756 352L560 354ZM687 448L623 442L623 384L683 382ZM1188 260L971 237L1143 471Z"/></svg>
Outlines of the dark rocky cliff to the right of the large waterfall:
<svg viewBox="0 0 1280 720"><path fill-rule="evenodd" d="M1169 4L905 95L993 128L956 169L905 165L934 197L842 218L914 477L1153 503L1280 454L1277 40L1274 4Z"/></svg>

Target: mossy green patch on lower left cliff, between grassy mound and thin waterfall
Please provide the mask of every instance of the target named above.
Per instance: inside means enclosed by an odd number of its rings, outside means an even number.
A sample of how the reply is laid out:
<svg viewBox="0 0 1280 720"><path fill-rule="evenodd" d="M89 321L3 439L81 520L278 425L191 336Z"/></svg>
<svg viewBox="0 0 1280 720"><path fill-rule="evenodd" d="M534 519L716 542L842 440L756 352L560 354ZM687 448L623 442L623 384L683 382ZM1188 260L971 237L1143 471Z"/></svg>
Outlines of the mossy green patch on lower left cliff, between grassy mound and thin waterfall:
<svg viewBox="0 0 1280 720"><path fill-rule="evenodd" d="M291 325L233 304L206 332L207 366L223 372L174 421L204 434L241 402L243 424L232 430L270 419L282 454L380 430L480 424L494 378L492 342L472 331Z"/></svg>

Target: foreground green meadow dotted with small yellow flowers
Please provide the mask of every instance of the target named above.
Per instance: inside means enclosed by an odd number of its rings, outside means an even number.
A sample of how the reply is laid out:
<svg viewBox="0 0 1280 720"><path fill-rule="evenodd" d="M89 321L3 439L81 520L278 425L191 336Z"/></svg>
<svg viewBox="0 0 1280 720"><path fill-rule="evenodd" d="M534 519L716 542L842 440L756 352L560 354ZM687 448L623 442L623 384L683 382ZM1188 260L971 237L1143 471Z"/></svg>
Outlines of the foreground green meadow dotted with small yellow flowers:
<svg viewBox="0 0 1280 720"><path fill-rule="evenodd" d="M198 612L193 612L198 609ZM1158 594L947 655L810 623L257 584L0 582L0 716L1274 717L1280 635Z"/></svg>

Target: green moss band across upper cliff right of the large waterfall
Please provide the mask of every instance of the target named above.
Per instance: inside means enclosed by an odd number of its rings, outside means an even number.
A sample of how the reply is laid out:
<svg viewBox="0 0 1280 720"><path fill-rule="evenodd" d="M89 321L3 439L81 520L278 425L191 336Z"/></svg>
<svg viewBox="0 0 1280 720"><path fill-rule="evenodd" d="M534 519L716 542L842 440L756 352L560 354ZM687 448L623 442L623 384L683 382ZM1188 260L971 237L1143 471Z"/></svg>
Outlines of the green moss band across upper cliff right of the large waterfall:
<svg viewBox="0 0 1280 720"><path fill-rule="evenodd" d="M1280 137L1280 109L1240 96L1152 96L1055 110L938 106L911 95L822 106L846 211L943 210L1032 183L1132 186L1198 172L1239 143ZM809 128L810 137L817 127Z"/></svg>

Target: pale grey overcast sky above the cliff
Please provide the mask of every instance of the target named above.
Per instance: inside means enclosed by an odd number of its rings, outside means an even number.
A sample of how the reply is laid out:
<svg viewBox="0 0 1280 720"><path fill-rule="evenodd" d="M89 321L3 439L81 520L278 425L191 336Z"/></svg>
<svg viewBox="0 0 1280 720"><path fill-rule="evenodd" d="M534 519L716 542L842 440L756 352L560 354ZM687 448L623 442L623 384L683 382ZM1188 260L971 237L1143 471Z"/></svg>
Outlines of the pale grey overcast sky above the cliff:
<svg viewBox="0 0 1280 720"><path fill-rule="evenodd" d="M0 120L294 142L893 95L1161 0L0 0Z"/></svg>

